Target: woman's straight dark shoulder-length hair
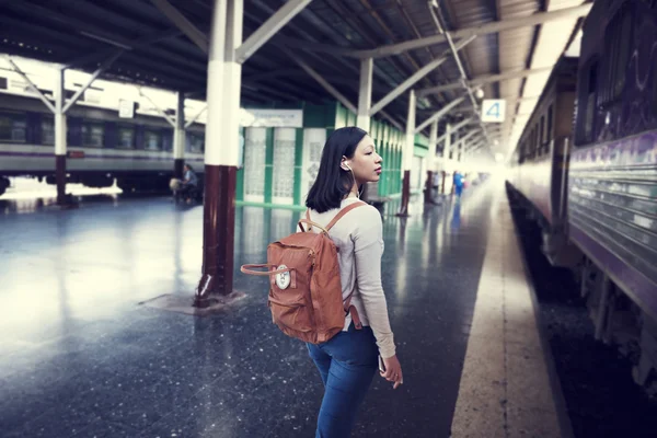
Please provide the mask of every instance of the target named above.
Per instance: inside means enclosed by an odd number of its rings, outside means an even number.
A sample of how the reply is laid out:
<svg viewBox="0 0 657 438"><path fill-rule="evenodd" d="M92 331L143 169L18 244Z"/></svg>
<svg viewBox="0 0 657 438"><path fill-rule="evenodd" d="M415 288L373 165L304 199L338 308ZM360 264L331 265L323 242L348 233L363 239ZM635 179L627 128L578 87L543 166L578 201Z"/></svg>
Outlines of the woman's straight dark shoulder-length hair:
<svg viewBox="0 0 657 438"><path fill-rule="evenodd" d="M339 128L333 131L322 151L318 177L308 192L306 206L318 212L324 212L339 205L351 189L354 175L341 169L343 155L354 157L356 147L367 136L367 132L355 126Z"/></svg>

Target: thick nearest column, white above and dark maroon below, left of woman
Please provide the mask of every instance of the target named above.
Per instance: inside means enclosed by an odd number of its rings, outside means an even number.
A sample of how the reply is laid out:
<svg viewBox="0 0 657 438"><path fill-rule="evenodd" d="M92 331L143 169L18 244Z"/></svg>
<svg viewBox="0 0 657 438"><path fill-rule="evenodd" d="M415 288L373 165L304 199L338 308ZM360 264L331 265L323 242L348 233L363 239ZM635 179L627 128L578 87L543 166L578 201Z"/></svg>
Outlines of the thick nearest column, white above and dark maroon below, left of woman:
<svg viewBox="0 0 657 438"><path fill-rule="evenodd" d="M207 308L232 293L235 184L242 66L243 0L216 0L208 64L203 276L194 306Z"/></svg>

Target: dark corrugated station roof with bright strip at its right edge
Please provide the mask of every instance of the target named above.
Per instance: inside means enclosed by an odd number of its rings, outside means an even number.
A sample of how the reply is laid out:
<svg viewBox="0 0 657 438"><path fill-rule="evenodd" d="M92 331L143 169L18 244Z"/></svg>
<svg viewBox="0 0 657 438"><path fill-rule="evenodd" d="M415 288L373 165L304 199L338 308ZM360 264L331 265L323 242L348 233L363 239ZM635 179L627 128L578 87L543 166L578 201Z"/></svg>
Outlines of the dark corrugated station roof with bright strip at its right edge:
<svg viewBox="0 0 657 438"><path fill-rule="evenodd" d="M207 54L163 12L173 7L209 35L212 0L0 0L0 51L94 71L102 77L184 91L203 99ZM583 0L314 0L243 65L242 105L322 102L334 97L293 59L301 59L354 104L360 58L374 58L372 103L433 60L413 88L417 123L465 95L465 84L506 99L503 124L486 125L494 152L515 146L551 68L574 39L590 4ZM244 39L284 1L244 0ZM584 4L584 5L583 5ZM558 12L557 12L558 11ZM445 32L447 31L447 33ZM460 65L447 38L459 45ZM406 44L405 44L406 43ZM403 126L403 93L383 115ZM441 120L457 123L465 99ZM427 128L428 132L428 128ZM496 146L498 145L498 146Z"/></svg>

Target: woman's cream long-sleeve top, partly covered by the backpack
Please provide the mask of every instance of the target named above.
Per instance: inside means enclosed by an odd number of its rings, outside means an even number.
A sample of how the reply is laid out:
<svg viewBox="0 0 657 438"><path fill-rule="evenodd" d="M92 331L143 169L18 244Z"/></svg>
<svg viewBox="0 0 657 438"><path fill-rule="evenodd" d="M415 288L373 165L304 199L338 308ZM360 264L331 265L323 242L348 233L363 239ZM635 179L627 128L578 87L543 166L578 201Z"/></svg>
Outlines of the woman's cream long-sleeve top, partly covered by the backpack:
<svg viewBox="0 0 657 438"><path fill-rule="evenodd" d="M341 208L358 198L346 198ZM337 215L335 208L325 212L310 210L310 219L325 227ZM303 214L306 216L306 214ZM314 232L319 232L313 228ZM351 290L351 304L356 307L362 325L371 327L383 358L395 355L394 337L388 318L388 303L381 285L381 256L383 255L383 224L379 211L365 205L353 209L328 231L328 235L339 249L339 277L343 300ZM351 316L347 315L343 331L349 328Z"/></svg>

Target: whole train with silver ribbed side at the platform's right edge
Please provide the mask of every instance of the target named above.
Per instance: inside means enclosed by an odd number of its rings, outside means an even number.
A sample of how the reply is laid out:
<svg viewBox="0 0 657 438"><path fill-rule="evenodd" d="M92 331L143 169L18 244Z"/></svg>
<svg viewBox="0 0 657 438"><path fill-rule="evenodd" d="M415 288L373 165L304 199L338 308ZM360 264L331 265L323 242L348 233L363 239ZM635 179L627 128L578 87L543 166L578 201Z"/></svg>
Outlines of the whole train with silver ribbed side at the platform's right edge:
<svg viewBox="0 0 657 438"><path fill-rule="evenodd" d="M573 270L601 342L657 394L657 9L597 0L577 58L556 64L507 187Z"/></svg>

